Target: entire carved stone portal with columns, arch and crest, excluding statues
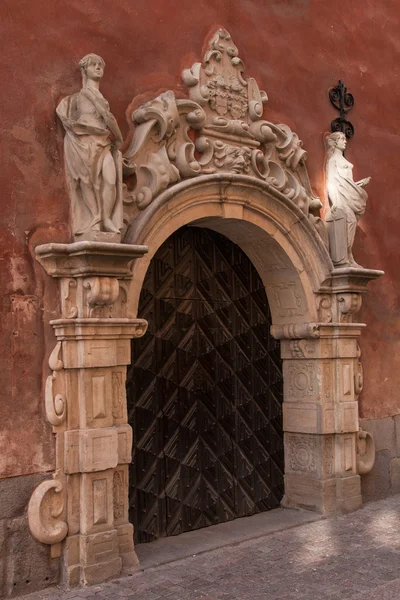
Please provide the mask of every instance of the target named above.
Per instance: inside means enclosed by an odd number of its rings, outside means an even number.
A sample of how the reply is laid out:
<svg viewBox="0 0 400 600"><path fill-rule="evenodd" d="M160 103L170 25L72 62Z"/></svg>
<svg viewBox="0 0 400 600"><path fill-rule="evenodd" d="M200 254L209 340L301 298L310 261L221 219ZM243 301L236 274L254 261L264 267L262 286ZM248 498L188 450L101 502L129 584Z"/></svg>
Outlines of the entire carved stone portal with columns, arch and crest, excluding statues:
<svg viewBox="0 0 400 600"><path fill-rule="evenodd" d="M133 112L124 243L94 231L90 239L101 241L36 248L60 280L61 314L51 322L57 344L45 390L56 471L34 491L29 524L52 556L62 554L70 585L137 566L126 366L131 338L146 330L137 309L149 261L183 225L228 237L264 283L283 359L284 505L322 513L361 505L360 473L374 451L359 433L363 324L353 317L382 273L333 268L302 144L287 126L262 120L266 94L243 71L220 30L203 63L183 74L190 99L170 91Z"/></svg>

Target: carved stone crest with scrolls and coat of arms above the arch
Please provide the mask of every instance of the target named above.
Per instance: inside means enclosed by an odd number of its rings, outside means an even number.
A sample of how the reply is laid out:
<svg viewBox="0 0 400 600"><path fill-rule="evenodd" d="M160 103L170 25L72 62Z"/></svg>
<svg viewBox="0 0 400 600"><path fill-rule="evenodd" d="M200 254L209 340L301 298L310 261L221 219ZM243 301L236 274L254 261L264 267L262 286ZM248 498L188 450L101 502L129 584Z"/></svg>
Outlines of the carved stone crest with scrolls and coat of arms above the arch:
<svg viewBox="0 0 400 600"><path fill-rule="evenodd" d="M190 99L168 91L132 113L135 129L124 153L126 222L182 179L231 173L268 182L326 239L302 142L287 125L263 120L267 94L244 69L231 36L220 29L203 62L182 74Z"/></svg>

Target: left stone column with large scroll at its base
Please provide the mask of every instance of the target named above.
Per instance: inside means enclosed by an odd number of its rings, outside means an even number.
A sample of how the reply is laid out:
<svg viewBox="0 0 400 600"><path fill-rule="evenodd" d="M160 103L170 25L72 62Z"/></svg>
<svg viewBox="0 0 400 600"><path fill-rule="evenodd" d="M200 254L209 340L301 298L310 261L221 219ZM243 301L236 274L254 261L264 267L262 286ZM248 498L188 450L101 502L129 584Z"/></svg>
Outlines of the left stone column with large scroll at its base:
<svg viewBox="0 0 400 600"><path fill-rule="evenodd" d="M147 322L127 317L133 262L144 246L77 242L36 248L60 282L61 315L52 321L46 414L56 434L56 472L34 491L33 535L62 553L68 585L99 583L138 560L128 520L126 365Z"/></svg>

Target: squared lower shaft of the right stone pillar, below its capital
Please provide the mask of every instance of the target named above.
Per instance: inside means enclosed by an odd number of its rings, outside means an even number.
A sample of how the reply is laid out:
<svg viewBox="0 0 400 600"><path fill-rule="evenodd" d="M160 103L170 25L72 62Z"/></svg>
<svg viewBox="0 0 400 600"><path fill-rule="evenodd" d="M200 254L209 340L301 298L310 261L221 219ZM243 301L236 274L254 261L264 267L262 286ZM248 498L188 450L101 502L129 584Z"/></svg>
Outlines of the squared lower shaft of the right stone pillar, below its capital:
<svg viewBox="0 0 400 600"><path fill-rule="evenodd" d="M355 373L361 327L321 324L282 340L287 506L338 512L361 505Z"/></svg>

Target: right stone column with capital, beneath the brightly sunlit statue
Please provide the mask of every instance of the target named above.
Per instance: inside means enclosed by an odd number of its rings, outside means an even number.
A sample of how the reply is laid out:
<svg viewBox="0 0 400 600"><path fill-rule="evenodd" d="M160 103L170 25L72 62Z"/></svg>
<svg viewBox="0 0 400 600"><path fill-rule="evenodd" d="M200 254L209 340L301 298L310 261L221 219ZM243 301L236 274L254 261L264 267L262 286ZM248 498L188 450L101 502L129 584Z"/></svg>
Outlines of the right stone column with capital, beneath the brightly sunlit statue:
<svg viewBox="0 0 400 600"><path fill-rule="evenodd" d="M286 507L335 513L362 504L360 474L372 469L374 452L372 438L360 444L364 325L352 320L379 275L337 269L316 295L319 323L272 327L283 359Z"/></svg>

